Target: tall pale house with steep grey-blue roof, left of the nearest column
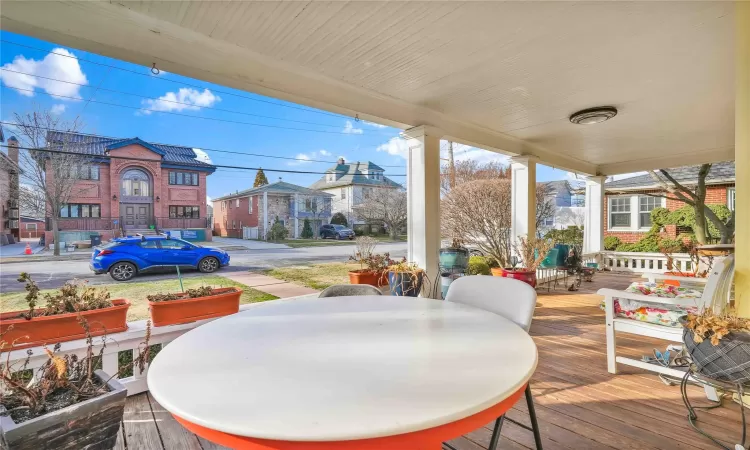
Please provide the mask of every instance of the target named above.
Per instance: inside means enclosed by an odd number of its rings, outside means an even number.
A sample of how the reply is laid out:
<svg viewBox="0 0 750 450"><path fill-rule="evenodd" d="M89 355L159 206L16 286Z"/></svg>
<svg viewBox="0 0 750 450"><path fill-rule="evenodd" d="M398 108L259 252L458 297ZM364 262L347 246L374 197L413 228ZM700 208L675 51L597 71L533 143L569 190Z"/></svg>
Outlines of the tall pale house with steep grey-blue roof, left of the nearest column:
<svg viewBox="0 0 750 450"><path fill-rule="evenodd" d="M347 163L339 158L337 164L326 170L318 181L310 186L332 194L332 211L342 213L349 226L360 228L365 221L354 214L357 205L365 202L371 195L378 195L382 189L403 189L403 187L383 175L383 168L370 161Z"/></svg>

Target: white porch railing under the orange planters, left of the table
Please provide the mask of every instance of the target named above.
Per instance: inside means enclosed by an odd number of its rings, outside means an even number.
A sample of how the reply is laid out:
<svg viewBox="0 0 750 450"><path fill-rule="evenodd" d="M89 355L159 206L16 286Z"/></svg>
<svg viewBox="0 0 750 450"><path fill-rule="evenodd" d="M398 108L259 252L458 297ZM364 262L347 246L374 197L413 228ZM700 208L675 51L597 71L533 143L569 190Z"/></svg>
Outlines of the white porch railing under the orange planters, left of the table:
<svg viewBox="0 0 750 450"><path fill-rule="evenodd" d="M317 294L305 295L301 297L291 297L276 301L288 301L299 298L314 297ZM240 311L247 310L249 308L262 305L263 303L252 303L249 305L240 305ZM151 338L149 339L149 346L168 345L173 340L187 333L188 331L197 328L205 323L211 322L216 319L200 320L198 322L186 323L182 325L170 325L165 327L151 327ZM127 331L122 333L111 334L107 336L106 343L104 344L104 352L102 354L102 370L109 375L116 374L120 371L120 354L130 353L127 360L132 361L137 357L139 347L143 347L143 342L146 337L146 321L139 320L136 322L128 322ZM94 337L94 354L98 355L102 348L102 337ZM52 345L49 346L51 349ZM29 357L27 352L31 350L32 356ZM78 358L86 356L87 346L85 339L79 339L76 341L62 342L60 344L60 351L58 355L75 354ZM43 347L33 347L30 349L14 350L0 355L3 362L6 360L10 363L12 370L19 371L22 369L31 369L35 375L36 369L44 365L49 359ZM26 359L28 358L28 364ZM140 394L148 390L146 384L146 374L148 373L148 364L140 372L138 367L132 368L133 375L125 378L120 378L120 383L128 389L128 395ZM118 378L118 377L115 377Z"/></svg>

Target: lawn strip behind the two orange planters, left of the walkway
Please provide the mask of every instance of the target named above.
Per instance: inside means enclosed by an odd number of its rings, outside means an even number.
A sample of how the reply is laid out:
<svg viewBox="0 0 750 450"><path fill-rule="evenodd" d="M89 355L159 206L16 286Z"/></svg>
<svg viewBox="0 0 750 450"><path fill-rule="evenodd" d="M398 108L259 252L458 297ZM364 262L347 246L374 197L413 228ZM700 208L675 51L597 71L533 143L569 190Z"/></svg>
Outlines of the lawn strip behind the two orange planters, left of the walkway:
<svg viewBox="0 0 750 450"><path fill-rule="evenodd" d="M213 287L237 287L242 289L242 297L240 297L240 303L257 303L264 302L266 300L275 300L277 297L261 292L245 286L244 284L237 283L228 278L220 277L217 275L205 276L205 277L191 277L183 278L182 283L185 289L196 288L200 286L213 286ZM102 284L96 285L97 288L106 288L111 298L125 298L130 300L130 308L128 309L128 320L141 320L148 318L148 301L146 296L150 294L159 294L167 292L178 292L180 290L180 282L177 279L171 280L154 280L146 282L130 282L130 283L116 283L116 284ZM44 300L41 298L42 294L46 292L52 292L56 289L45 289L40 291L40 299L38 307L44 307ZM0 312L8 311L23 311L28 307L26 306L26 300L24 297L26 292L10 292L0 294Z"/></svg>

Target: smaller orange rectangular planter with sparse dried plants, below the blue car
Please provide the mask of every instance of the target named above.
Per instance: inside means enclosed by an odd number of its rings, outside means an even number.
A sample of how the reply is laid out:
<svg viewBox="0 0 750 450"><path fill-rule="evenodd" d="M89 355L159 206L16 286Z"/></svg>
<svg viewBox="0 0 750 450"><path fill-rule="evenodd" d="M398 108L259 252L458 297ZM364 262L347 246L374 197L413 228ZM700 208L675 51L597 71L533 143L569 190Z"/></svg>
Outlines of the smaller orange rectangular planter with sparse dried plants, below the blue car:
<svg viewBox="0 0 750 450"><path fill-rule="evenodd" d="M185 292L149 295L149 312L155 327L228 316L240 310L242 290L201 286Z"/></svg>

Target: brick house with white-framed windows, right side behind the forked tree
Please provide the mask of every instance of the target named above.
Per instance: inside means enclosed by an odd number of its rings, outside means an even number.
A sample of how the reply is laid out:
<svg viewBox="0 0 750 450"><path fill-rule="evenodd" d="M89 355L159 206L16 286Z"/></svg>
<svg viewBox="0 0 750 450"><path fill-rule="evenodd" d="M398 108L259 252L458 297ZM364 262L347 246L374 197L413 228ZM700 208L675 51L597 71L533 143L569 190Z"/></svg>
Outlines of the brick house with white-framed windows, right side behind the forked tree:
<svg viewBox="0 0 750 450"><path fill-rule="evenodd" d="M691 186L698 180L700 166L685 166L668 169L669 174L680 184ZM734 162L715 163L706 177L706 204L735 206ZM617 236L624 243L640 240L651 228L651 210L665 207L670 211L685 206L677 200L653 197L649 193L664 193L660 186L644 174L604 184L604 236ZM666 226L666 234L675 238L683 231L675 225Z"/></svg>

